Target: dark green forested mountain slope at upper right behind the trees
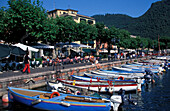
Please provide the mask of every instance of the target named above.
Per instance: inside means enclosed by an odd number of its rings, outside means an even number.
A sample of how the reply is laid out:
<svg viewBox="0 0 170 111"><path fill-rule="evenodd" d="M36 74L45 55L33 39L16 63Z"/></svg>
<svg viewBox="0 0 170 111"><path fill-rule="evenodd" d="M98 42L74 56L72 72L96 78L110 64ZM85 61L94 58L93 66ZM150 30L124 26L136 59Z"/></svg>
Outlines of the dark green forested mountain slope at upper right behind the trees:
<svg viewBox="0 0 170 111"><path fill-rule="evenodd" d="M170 0L162 0L153 3L150 9L138 18L128 15L105 14L94 15L96 22L102 22L106 26L115 26L128 30L132 35L157 38L159 36L170 37Z"/></svg>

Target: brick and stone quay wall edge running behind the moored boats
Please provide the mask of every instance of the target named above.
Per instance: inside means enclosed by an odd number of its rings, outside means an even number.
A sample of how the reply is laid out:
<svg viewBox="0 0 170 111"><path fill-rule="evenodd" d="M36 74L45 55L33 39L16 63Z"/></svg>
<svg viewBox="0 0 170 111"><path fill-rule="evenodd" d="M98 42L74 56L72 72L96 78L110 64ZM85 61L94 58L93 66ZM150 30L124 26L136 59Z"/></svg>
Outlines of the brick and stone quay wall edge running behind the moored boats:
<svg viewBox="0 0 170 111"><path fill-rule="evenodd" d="M119 66L121 64L126 64L127 62L131 63L134 62L135 60L139 61L141 59L146 58L113 61L102 63L100 65L101 69L110 69L113 66ZM96 65L85 65L80 67L61 69L60 73L57 73L56 71L46 71L33 74L23 74L18 76L0 78L0 97L7 93L8 86L34 89L45 86L47 80L48 81L55 80L56 77L69 79L71 74L81 76L83 75L84 72L96 69L97 69Z"/></svg>

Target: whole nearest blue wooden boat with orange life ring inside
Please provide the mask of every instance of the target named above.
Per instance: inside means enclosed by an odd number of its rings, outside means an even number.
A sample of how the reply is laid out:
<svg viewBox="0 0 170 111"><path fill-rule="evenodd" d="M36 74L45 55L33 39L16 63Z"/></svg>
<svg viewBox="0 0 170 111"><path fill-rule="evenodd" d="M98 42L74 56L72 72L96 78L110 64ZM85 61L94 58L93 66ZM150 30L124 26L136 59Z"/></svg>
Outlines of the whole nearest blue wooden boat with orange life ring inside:
<svg viewBox="0 0 170 111"><path fill-rule="evenodd" d="M13 87L8 87L8 98L11 102L17 101L36 109L50 111L110 111L113 106L106 98Z"/></svg>

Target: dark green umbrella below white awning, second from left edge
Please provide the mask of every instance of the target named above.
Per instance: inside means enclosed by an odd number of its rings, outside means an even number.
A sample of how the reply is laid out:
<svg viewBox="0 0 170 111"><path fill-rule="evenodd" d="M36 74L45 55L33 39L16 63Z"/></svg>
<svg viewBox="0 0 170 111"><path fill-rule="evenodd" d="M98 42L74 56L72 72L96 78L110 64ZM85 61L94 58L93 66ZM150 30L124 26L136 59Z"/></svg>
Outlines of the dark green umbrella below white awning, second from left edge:
<svg viewBox="0 0 170 111"><path fill-rule="evenodd" d="M16 47L16 46L10 46L11 48L11 54L16 55L16 56L21 56L21 55L25 55L26 52L21 49L20 47Z"/></svg>

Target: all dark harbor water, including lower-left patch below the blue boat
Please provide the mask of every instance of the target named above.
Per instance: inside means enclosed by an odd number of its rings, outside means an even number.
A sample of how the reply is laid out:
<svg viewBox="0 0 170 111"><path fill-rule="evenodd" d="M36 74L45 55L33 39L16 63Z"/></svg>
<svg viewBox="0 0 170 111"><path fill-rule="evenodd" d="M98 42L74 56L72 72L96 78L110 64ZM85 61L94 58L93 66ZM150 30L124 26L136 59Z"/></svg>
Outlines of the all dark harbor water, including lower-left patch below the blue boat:
<svg viewBox="0 0 170 111"><path fill-rule="evenodd" d="M46 87L39 88L38 90L46 90ZM127 94L126 96L128 96ZM119 108L120 111L169 111L170 110L170 71L163 75L159 75L155 84L143 86L140 93L131 94L133 101L137 105L125 102ZM35 110L23 104L13 104L11 108L6 108L7 104L2 103L0 100L0 111L31 111ZM36 111L40 111L37 110ZM87 109L88 111L88 109Z"/></svg>

